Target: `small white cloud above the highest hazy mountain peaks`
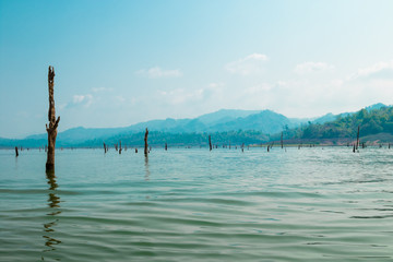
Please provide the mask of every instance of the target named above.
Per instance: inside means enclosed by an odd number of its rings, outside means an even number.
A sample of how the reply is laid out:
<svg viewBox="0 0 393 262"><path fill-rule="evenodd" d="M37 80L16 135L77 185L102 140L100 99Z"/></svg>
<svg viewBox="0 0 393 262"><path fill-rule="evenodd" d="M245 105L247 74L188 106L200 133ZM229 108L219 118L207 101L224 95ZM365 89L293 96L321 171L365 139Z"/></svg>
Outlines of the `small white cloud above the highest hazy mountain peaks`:
<svg viewBox="0 0 393 262"><path fill-rule="evenodd" d="M263 72L264 62L267 57L263 53L252 53L237 61L229 62L225 69L230 73L250 75Z"/></svg>

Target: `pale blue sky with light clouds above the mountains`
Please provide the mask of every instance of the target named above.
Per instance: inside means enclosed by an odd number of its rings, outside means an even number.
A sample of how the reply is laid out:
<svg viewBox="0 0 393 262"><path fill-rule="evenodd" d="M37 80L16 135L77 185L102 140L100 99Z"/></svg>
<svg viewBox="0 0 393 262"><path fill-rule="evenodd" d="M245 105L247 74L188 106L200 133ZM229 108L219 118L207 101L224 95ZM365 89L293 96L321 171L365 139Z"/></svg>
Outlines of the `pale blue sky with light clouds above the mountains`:
<svg viewBox="0 0 393 262"><path fill-rule="evenodd" d="M393 1L0 0L0 136L393 104Z"/></svg>

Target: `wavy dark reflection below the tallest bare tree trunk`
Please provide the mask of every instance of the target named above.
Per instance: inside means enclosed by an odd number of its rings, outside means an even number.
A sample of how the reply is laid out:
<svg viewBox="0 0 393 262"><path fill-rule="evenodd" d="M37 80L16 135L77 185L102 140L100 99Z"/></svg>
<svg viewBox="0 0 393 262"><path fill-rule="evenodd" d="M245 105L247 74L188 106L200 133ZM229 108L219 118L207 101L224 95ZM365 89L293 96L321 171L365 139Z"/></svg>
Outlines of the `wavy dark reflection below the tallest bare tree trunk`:
<svg viewBox="0 0 393 262"><path fill-rule="evenodd" d="M44 233L43 237L46 239L46 241L45 241L46 249L43 250L44 252L55 251L56 245L61 243L60 240L52 237L52 235L55 234L55 227L59 223L59 219L56 218L55 216L59 215L61 213L61 211L59 210L60 196L58 196L56 194L56 190L59 187L59 184L56 182L55 171L47 171L46 176L47 176L48 184L49 184L48 206L50 207L50 212L47 214L47 216L50 216L50 218L55 218L55 219L49 223L44 224L45 233ZM44 258L43 258L43 260L44 260ZM60 259L57 259L57 260L60 261Z"/></svg>

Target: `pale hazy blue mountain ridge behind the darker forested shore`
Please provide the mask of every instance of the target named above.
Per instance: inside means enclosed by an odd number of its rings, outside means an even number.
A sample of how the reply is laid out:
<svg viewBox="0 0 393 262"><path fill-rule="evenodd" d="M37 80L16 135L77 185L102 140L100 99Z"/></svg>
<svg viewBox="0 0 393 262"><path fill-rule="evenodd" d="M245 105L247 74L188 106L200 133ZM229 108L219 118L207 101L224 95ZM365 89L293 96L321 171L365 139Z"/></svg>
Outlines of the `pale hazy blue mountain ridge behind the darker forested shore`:
<svg viewBox="0 0 393 262"><path fill-rule="evenodd" d="M367 111L386 107L384 104L374 104L366 107ZM233 131L255 131L264 135L276 134L283 130L298 128L301 124L334 121L337 117L345 117L352 112L340 115L326 114L319 118L287 118L272 110L237 110L221 109L215 112L205 114L193 119L151 120L122 128L72 128L60 132L57 139L58 146L87 145L86 141L106 141L111 138L124 138L141 133L148 128L152 132L165 132L172 134L181 133L219 133ZM26 146L43 146L46 144L47 134L28 135L23 140L9 140L0 138L0 146L12 146L15 143Z"/></svg>

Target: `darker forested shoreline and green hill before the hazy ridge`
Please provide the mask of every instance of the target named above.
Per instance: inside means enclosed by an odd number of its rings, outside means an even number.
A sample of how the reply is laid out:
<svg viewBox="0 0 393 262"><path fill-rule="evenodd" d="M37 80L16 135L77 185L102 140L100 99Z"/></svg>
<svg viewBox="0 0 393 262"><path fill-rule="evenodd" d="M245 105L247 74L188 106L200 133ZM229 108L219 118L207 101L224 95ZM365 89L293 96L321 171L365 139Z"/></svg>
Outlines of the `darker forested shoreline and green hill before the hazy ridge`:
<svg viewBox="0 0 393 262"><path fill-rule="evenodd" d="M257 130L236 130L225 132L181 132L165 131L150 132L151 146L206 146L209 135L212 136L214 147L223 146L259 146L262 144L281 143L283 138L286 145L315 144L315 145L344 145L356 140L357 129L360 127L361 142L393 143L393 107L385 106L378 109L361 109L354 114L338 115L335 120L325 123L309 121L297 128L283 126L283 131L266 134ZM60 135L59 135L60 136ZM79 141L59 140L57 147L102 147L103 143L111 146L119 141L124 146L138 147L143 145L144 132L126 131L115 135L84 139ZM60 136L61 138L61 136ZM45 136L27 138L24 140L0 139L1 148L44 147Z"/></svg>

